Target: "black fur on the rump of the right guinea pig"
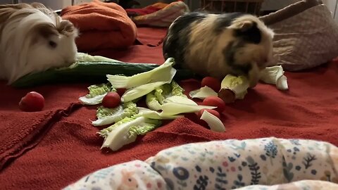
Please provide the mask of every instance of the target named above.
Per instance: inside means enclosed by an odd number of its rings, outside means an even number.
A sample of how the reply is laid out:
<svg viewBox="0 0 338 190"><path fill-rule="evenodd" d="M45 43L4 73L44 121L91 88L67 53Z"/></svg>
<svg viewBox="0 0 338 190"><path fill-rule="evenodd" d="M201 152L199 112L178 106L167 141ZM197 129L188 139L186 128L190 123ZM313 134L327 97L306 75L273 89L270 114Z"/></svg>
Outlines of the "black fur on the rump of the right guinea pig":
<svg viewBox="0 0 338 190"><path fill-rule="evenodd" d="M175 58L175 67L180 68L184 64L185 48L189 43L191 24L201 22L206 18L205 13L192 12L177 18L168 30L163 40L164 58Z"/></svg>

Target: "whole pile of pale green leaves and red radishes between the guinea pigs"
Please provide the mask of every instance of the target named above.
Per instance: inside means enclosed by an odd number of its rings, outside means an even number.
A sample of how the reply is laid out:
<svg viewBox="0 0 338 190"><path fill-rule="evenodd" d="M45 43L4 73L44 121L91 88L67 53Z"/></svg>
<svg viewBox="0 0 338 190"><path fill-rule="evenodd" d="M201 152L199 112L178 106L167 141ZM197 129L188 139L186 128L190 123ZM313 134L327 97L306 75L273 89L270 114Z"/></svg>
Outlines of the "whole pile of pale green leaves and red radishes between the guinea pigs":
<svg viewBox="0 0 338 190"><path fill-rule="evenodd" d="M108 82L94 84L89 93L80 97L84 105L98 105L94 126L106 126L98 134L104 138L101 148L118 151L137 139L138 135L160 127L163 120L184 117L184 113L196 113L215 132L225 132L220 113L225 104L244 99L249 80L244 76L227 75L221 82L213 77L204 77L201 88L189 92L175 82L177 72L173 58L162 65L132 76L106 75ZM261 80L276 84L277 89L287 89L287 78L281 66L266 68ZM144 98L146 107L138 106ZM192 99L202 99L198 105Z"/></svg>

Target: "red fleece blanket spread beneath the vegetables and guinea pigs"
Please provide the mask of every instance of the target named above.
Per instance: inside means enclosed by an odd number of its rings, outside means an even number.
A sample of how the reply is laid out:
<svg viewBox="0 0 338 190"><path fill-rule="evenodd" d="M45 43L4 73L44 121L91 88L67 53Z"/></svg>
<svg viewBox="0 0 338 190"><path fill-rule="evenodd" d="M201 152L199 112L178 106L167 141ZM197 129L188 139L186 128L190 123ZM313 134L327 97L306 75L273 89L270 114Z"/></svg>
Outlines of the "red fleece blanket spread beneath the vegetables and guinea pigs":
<svg viewBox="0 0 338 190"><path fill-rule="evenodd" d="M110 56L118 54L113 51ZM125 53L120 60L163 63L161 46L132 46L130 54ZM338 62L304 72L286 72L289 91L258 84L244 100L228 105L223 113L224 133L199 125L192 114L139 137L115 153L99 150L103 139L96 136L98 129L90 122L96 106L77 104L77 98L87 93L88 84L18 90L1 83L1 189L60 189L102 167L144 160L163 148L196 141L274 136L338 145L337 73ZM195 80L181 84L186 92L199 87ZM31 90L44 94L46 108L40 113L21 113L18 101Z"/></svg>

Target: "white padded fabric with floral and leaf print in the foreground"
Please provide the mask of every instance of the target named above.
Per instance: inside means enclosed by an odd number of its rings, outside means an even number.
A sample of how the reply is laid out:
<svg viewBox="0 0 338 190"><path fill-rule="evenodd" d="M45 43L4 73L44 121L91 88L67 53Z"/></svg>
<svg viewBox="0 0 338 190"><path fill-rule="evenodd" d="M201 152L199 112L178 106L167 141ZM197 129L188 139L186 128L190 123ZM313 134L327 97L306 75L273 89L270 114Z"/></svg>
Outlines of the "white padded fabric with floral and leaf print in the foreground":
<svg viewBox="0 0 338 190"><path fill-rule="evenodd" d="M306 139L184 144L89 174L75 189L338 189L338 148Z"/></svg>

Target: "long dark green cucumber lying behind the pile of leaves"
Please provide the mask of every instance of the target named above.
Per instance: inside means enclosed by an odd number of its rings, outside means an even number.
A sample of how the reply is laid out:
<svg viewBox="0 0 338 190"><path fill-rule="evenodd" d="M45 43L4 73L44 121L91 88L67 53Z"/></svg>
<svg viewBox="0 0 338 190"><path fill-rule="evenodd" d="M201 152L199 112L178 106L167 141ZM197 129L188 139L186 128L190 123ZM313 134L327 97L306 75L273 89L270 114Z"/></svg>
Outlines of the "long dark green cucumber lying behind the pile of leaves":
<svg viewBox="0 0 338 190"><path fill-rule="evenodd" d="M152 70L159 65L154 63L125 63L91 61L80 62L74 68L49 69L25 75L11 84L15 88L35 87L56 83L101 83L107 82L106 75L132 76ZM177 70L175 80L187 80L195 75L189 70Z"/></svg>

